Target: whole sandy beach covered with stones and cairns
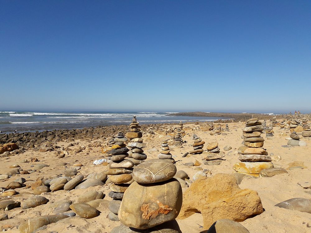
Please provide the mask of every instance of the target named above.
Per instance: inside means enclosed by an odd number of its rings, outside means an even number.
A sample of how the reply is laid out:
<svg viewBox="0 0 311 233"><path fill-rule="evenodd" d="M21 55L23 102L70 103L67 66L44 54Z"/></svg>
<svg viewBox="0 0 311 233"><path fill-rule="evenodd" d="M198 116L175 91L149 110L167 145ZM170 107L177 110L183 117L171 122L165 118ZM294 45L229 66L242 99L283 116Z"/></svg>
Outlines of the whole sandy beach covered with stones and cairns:
<svg viewBox="0 0 311 233"><path fill-rule="evenodd" d="M0 134L0 231L311 232L311 114Z"/></svg>

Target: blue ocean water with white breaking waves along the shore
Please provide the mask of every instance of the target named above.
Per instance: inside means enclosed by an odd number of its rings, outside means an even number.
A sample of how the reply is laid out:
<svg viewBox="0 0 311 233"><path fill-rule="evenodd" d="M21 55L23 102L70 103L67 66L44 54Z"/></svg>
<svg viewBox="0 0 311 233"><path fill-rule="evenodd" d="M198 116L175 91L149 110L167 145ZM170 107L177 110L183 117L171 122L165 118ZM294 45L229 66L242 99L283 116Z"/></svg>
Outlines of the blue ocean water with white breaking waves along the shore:
<svg viewBox="0 0 311 233"><path fill-rule="evenodd" d="M31 132L129 125L133 116L137 117L140 124L218 120L215 117L169 116L170 113L174 112L0 111L0 131L11 133L15 130L17 132Z"/></svg>

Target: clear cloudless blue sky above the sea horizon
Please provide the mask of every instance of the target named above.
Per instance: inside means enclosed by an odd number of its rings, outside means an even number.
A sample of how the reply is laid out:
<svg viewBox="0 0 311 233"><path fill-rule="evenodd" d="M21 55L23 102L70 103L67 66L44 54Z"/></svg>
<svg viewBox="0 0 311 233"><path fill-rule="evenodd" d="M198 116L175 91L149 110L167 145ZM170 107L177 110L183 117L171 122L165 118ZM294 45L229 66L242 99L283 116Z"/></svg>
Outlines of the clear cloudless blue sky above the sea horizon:
<svg viewBox="0 0 311 233"><path fill-rule="evenodd" d="M0 1L1 110L311 111L311 1Z"/></svg>

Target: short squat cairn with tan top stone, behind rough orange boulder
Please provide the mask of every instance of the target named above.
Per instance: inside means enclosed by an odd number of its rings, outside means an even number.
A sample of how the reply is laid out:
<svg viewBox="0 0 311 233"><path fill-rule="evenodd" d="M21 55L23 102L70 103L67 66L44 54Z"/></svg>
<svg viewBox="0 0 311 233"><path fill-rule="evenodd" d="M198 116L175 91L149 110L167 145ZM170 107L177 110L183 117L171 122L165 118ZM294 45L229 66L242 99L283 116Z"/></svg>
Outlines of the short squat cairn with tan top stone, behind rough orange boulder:
<svg viewBox="0 0 311 233"><path fill-rule="evenodd" d="M220 152L217 142L211 142L206 145L207 150L204 151L204 164L206 165L219 165L224 161L225 152Z"/></svg>

